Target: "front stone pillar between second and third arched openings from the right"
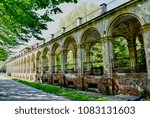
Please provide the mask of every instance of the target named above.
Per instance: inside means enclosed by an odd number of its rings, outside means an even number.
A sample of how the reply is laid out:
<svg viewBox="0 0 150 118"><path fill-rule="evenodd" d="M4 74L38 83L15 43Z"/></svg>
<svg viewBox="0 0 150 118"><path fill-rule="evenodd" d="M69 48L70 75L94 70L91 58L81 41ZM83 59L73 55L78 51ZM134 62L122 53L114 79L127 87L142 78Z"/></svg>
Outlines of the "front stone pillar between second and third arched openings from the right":
<svg viewBox="0 0 150 118"><path fill-rule="evenodd" d="M83 76L83 61L84 61L84 49L82 45L77 45L77 71L78 76Z"/></svg>

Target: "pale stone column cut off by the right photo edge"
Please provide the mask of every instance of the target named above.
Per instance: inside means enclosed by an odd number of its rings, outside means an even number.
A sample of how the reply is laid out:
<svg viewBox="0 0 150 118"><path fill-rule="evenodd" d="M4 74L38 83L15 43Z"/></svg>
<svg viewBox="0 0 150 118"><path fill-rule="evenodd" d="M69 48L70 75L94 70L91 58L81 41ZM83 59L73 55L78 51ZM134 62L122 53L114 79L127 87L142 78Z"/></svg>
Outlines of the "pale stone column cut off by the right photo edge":
<svg viewBox="0 0 150 118"><path fill-rule="evenodd" d="M146 63L147 63L147 76L148 79L150 79L150 25L145 25L142 27L142 29L143 29Z"/></svg>

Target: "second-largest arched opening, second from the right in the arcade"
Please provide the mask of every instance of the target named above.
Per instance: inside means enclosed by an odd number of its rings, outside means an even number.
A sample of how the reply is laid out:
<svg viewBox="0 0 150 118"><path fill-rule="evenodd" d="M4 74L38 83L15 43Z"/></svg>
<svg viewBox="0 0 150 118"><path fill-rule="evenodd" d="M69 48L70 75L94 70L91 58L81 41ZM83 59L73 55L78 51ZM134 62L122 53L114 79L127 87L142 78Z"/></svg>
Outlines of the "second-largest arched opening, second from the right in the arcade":
<svg viewBox="0 0 150 118"><path fill-rule="evenodd" d="M96 28L89 28L82 36L83 74L103 75L102 43Z"/></svg>

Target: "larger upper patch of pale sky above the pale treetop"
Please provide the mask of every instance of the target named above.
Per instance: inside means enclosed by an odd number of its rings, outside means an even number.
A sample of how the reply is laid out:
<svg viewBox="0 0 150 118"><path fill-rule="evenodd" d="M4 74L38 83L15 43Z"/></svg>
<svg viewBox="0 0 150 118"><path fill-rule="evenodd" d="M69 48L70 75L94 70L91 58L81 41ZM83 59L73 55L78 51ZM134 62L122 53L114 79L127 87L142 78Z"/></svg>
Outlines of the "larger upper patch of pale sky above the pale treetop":
<svg viewBox="0 0 150 118"><path fill-rule="evenodd" d="M54 34L56 33L56 29L58 28L58 25L60 23L60 18L64 18L65 16L67 16L67 14L69 14L69 12L71 12L73 9L75 9L77 6L83 4L83 3L94 3L98 6L100 6L102 3L108 3L108 10L122 4L125 3L129 0L78 0L77 4L74 3L64 3L60 5L60 9L63 11L63 13L58 14L58 15L54 15L52 18L54 19L55 22L51 22L48 24L48 31L44 32L44 37L48 38L50 36L50 34Z"/></svg>

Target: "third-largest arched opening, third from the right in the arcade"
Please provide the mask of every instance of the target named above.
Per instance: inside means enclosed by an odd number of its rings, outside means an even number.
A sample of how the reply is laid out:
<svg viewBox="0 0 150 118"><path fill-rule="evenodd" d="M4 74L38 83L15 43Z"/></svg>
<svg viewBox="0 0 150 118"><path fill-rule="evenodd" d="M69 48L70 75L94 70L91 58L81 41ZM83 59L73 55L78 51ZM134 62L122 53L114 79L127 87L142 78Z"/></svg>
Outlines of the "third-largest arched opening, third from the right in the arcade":
<svg viewBox="0 0 150 118"><path fill-rule="evenodd" d="M65 50L65 73L76 73L76 41L73 37L66 39L64 44Z"/></svg>

